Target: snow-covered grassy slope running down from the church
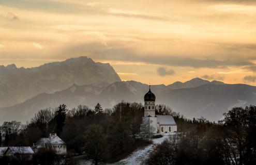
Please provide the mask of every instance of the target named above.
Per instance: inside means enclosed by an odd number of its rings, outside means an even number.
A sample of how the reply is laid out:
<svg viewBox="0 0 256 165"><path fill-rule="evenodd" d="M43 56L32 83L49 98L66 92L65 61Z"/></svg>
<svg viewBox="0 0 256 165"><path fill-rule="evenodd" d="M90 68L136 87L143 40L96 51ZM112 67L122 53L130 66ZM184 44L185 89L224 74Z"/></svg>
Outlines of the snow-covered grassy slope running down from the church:
<svg viewBox="0 0 256 165"><path fill-rule="evenodd" d="M108 165L140 165L143 161L148 157L150 151L153 150L154 144L159 144L163 142L165 139L168 139L169 136L164 136L162 138L153 139L153 143L145 146L143 149L138 149L132 152L127 158L122 159L116 163L108 164ZM79 165L89 165L91 161L81 161Z"/></svg>

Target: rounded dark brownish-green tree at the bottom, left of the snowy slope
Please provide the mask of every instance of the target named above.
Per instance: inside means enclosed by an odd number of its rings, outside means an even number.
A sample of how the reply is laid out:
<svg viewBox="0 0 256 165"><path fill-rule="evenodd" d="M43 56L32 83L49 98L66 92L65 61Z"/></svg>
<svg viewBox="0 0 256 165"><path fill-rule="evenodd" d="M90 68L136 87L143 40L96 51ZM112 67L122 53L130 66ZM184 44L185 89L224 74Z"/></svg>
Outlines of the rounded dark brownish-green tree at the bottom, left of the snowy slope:
<svg viewBox="0 0 256 165"><path fill-rule="evenodd" d="M93 163L98 165L104 159L106 140L103 128L100 125L90 125L85 132L85 151L88 158L93 159Z"/></svg>

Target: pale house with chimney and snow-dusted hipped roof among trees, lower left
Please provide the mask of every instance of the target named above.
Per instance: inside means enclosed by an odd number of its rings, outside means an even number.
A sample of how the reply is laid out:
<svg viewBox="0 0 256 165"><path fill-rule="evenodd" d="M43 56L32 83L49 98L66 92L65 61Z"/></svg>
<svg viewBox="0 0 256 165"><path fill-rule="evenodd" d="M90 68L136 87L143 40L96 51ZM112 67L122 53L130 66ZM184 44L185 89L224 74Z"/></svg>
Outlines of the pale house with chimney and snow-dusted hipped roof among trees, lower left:
<svg viewBox="0 0 256 165"><path fill-rule="evenodd" d="M51 148L56 151L58 155L67 154L66 143L57 136L57 134L50 134L49 138L41 138L34 146L34 151L41 148Z"/></svg>

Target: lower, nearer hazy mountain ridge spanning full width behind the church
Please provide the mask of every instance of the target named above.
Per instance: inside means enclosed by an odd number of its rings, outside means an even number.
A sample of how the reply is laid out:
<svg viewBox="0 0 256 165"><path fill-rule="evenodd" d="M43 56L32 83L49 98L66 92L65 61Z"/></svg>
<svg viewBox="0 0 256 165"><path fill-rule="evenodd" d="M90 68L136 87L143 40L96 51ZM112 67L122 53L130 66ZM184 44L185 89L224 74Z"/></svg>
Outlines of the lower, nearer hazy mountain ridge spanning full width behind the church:
<svg viewBox="0 0 256 165"><path fill-rule="evenodd" d="M234 106L255 104L256 87L243 84L216 85L208 83L195 88L171 90L164 85L151 87L156 95L156 104L165 104L174 111L189 118L206 117L209 120L219 120L224 112ZM143 103L148 85L136 81L117 81L111 85L86 85L72 87L54 94L39 94L22 104L0 108L0 121L31 119L34 113L46 107L57 107L67 104L68 108L79 104L94 107L100 103L103 108L112 107L118 102Z"/></svg>

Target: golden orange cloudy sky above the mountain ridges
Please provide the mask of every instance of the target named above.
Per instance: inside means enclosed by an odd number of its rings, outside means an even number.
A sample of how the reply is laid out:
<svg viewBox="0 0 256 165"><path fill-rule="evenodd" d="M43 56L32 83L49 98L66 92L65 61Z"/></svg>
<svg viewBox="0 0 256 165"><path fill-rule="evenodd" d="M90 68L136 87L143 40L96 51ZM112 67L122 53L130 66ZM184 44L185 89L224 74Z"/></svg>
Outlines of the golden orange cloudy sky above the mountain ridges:
<svg viewBox="0 0 256 165"><path fill-rule="evenodd" d="M79 56L122 80L256 86L256 2L0 0L0 65Z"/></svg>

